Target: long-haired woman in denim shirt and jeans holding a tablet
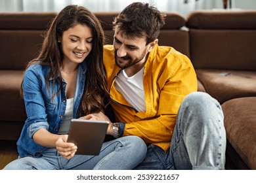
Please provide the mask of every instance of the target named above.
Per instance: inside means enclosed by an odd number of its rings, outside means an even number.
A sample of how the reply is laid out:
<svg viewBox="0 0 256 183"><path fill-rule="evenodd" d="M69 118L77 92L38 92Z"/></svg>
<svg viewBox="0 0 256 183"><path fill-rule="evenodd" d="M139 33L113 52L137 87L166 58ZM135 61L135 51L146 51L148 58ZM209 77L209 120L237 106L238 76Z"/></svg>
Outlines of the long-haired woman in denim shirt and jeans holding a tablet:
<svg viewBox="0 0 256 183"><path fill-rule="evenodd" d="M70 5L54 18L24 74L28 119L17 142L19 158L5 169L133 169L144 159L146 145L139 137L104 142L98 156L82 156L62 135L72 118L110 121L102 113L109 97L103 44L100 22L87 8ZM111 122L106 134L113 135Z"/></svg>

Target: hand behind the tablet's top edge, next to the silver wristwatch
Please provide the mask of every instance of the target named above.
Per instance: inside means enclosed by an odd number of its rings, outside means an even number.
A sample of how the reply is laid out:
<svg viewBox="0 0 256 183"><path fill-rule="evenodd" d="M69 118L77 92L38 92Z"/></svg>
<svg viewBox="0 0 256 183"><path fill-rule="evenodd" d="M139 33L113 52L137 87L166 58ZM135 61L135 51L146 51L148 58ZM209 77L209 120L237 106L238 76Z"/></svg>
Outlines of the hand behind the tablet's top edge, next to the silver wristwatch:
<svg viewBox="0 0 256 183"><path fill-rule="evenodd" d="M103 121L110 122L110 118L108 118L108 116L106 116L103 112L88 114L87 116L83 116L79 119L81 119L81 120L103 120ZM113 124L112 124L112 122L110 122L110 124L108 125L106 135L113 135Z"/></svg>

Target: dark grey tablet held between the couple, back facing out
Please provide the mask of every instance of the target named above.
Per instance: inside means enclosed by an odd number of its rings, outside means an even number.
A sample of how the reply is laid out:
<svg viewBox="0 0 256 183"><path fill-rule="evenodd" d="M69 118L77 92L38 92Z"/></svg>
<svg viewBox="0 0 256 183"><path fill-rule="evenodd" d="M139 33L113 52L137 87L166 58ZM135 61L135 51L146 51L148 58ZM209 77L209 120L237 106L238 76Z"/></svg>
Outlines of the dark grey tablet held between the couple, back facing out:
<svg viewBox="0 0 256 183"><path fill-rule="evenodd" d="M108 121L72 119L68 142L73 142L77 146L75 154L100 154L108 124Z"/></svg>

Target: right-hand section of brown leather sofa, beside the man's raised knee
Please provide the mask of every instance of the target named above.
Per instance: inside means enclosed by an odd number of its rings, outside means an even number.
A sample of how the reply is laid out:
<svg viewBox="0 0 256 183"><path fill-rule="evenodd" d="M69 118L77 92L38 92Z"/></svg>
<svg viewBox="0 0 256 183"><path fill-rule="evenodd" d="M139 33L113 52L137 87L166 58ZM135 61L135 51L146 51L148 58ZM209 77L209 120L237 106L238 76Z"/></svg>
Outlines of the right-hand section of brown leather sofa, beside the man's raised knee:
<svg viewBox="0 0 256 183"><path fill-rule="evenodd" d="M256 169L256 11L196 11L187 17L190 59L226 127L226 169Z"/></svg>

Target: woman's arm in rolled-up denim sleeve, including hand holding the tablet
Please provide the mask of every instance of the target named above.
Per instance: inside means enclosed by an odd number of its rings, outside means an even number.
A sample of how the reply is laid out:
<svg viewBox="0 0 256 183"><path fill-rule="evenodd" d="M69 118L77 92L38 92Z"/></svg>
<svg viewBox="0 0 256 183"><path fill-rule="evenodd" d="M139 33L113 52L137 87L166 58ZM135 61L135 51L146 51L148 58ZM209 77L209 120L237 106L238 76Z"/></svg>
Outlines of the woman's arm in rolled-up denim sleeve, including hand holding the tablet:
<svg viewBox="0 0 256 183"><path fill-rule="evenodd" d="M35 65L34 67L39 67ZM24 102L26 106L26 113L28 119L28 135L35 141L35 143L48 148L57 148L59 154L65 158L74 156L76 146L74 143L68 143L66 140L68 136L57 135L49 131L48 118L51 115L51 106L45 104L47 91L42 90L42 85L45 84L45 79L37 69L28 69L24 75L24 82L22 84L24 90ZM50 96L51 97L51 96ZM47 107L48 106L48 107Z"/></svg>

